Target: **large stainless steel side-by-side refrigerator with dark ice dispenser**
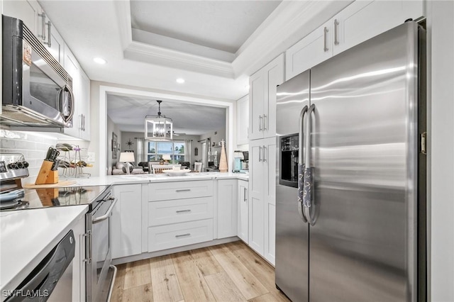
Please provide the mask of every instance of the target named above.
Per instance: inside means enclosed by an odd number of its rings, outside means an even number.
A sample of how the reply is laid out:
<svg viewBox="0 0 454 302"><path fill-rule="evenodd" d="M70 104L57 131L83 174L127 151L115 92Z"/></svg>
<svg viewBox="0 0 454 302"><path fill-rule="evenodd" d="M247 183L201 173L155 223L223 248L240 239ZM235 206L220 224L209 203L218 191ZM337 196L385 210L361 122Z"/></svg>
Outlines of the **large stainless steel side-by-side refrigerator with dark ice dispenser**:
<svg viewBox="0 0 454 302"><path fill-rule="evenodd" d="M425 30L410 21L277 87L276 286L426 298Z"/></svg>

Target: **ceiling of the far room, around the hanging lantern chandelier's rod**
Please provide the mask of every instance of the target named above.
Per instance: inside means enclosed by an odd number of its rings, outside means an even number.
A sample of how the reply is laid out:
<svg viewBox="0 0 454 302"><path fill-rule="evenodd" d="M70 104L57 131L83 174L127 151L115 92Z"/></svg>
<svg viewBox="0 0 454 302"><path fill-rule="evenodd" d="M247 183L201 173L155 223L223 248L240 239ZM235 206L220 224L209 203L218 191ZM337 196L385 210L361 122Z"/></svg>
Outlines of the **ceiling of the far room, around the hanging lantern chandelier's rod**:
<svg viewBox="0 0 454 302"><path fill-rule="evenodd" d="M107 96L107 115L121 131L144 132L145 116L157 116L157 112L156 99L116 94ZM226 127L226 108L163 100L161 113L172 118L175 133L203 135Z"/></svg>

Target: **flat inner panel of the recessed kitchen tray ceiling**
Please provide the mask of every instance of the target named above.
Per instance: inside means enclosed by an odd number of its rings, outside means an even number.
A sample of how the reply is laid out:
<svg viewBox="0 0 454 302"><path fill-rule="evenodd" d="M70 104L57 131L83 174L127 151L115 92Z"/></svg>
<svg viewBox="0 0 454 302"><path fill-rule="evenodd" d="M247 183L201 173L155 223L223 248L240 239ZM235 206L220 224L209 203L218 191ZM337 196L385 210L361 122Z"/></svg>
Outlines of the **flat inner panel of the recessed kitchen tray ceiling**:
<svg viewBox="0 0 454 302"><path fill-rule="evenodd" d="M131 23L174 44L181 40L234 55L280 2L131 0Z"/></svg>

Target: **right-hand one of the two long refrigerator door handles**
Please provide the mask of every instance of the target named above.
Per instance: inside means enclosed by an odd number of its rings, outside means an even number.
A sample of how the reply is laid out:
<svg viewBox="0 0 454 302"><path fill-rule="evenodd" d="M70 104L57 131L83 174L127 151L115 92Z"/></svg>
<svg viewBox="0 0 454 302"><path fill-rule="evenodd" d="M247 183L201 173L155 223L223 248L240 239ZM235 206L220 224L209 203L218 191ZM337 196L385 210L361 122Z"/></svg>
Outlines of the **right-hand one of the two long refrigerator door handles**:
<svg viewBox="0 0 454 302"><path fill-rule="evenodd" d="M304 205L304 216L306 216L307 222L310 225L315 225L316 218L312 217L315 211L311 211L314 208L312 201L314 200L314 168L311 167L311 115L314 112L315 105L312 104L307 110L307 124L306 124L306 154L304 155L304 186L303 186L303 205ZM312 212L312 215L311 215Z"/></svg>

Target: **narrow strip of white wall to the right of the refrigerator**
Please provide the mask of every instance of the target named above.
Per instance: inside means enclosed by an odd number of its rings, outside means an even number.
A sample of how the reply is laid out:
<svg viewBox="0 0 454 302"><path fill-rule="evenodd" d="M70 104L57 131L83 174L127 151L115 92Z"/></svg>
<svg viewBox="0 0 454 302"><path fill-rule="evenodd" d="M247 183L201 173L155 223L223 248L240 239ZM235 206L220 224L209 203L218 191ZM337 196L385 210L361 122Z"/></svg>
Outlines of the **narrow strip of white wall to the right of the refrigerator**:
<svg viewBox="0 0 454 302"><path fill-rule="evenodd" d="M427 1L431 301L454 301L454 1Z"/></svg>

